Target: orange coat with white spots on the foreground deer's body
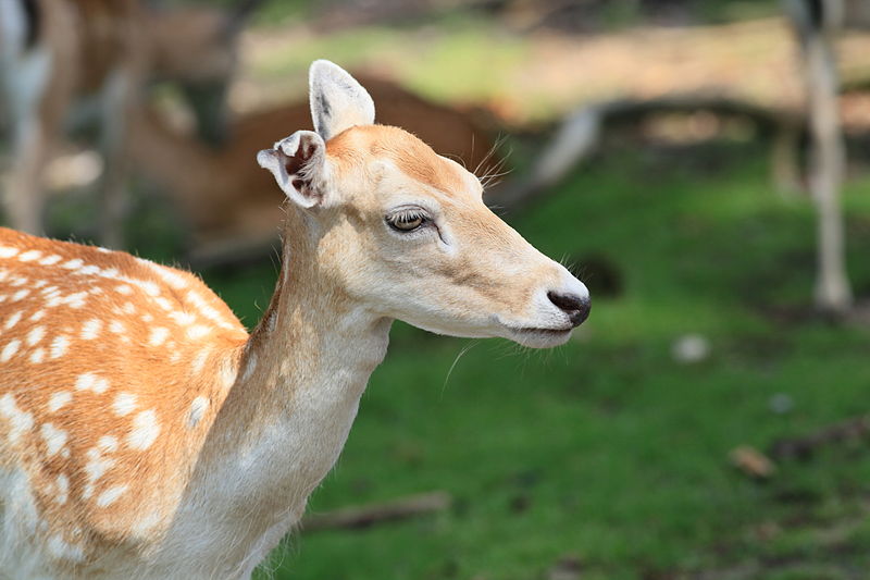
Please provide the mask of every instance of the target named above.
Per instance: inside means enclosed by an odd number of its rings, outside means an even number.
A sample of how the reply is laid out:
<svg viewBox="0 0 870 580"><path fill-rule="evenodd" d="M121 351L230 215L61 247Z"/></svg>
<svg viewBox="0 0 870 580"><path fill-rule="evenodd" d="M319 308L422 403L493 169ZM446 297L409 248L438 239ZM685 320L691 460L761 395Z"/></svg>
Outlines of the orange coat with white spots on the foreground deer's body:
<svg viewBox="0 0 870 580"><path fill-rule="evenodd" d="M71 566L159 535L247 337L188 272L0 229L7 534Z"/></svg>

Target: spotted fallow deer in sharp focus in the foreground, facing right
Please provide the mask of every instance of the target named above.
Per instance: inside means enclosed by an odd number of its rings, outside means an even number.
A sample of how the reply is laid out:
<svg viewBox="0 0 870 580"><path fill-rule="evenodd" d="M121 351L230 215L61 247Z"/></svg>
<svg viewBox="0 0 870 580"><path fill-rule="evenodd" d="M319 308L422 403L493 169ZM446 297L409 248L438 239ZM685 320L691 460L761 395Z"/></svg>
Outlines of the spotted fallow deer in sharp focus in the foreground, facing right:
<svg viewBox="0 0 870 580"><path fill-rule="evenodd" d="M316 132L260 151L288 200L249 335L195 275L0 230L0 570L243 579L334 465L391 321L531 347L582 282L492 213L477 178L345 71L310 71Z"/></svg>

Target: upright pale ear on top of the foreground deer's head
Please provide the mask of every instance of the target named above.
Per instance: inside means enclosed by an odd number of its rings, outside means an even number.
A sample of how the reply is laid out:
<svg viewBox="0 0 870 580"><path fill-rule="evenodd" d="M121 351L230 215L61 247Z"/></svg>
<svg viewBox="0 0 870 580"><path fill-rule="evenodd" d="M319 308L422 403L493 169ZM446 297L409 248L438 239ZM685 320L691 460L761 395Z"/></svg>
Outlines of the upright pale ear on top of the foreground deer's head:
<svg viewBox="0 0 870 580"><path fill-rule="evenodd" d="M355 125L374 123L374 101L344 69L314 61L308 74L311 119L324 141Z"/></svg>

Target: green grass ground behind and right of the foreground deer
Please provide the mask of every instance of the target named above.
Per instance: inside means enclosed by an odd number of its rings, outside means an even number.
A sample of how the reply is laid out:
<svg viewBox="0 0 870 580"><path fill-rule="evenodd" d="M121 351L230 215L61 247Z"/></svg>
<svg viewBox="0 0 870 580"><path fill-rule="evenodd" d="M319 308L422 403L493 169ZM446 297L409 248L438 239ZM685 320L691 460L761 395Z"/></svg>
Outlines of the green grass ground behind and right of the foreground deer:
<svg viewBox="0 0 870 580"><path fill-rule="evenodd" d="M716 163L698 169L698 156ZM805 200L770 190L762 158L751 147L616 152L507 214L581 270L584 256L610 261L622 293L596 297L593 277L593 316L574 341L555 351L483 341L449 378L468 341L397 324L311 510L436 489L453 507L297 534L266 569L296 580L519 580L572 557L584 579L859 577L870 566L863 445L784 462L763 483L728 460L736 445L763 449L865 412L870 385L867 329L771 316L808 310L813 219ZM849 268L865 289L868 185L848 197ZM209 282L253 323L274 271ZM689 332L711 355L679 365L671 345ZM778 393L793 398L791 412L770 410Z"/></svg>

